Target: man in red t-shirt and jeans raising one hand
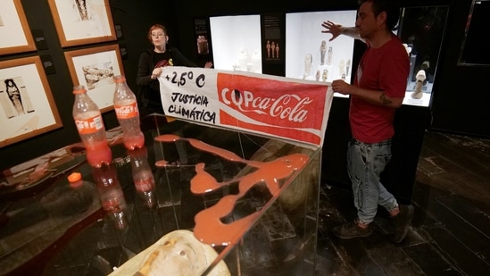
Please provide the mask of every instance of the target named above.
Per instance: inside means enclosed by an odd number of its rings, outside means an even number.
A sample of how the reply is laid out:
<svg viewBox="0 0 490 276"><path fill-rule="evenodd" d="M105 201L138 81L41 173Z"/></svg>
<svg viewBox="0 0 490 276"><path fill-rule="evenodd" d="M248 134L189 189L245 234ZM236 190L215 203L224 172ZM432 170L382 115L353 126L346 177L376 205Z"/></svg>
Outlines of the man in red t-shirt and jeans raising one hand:
<svg viewBox="0 0 490 276"><path fill-rule="evenodd" d="M399 205L380 182L380 174L391 158L394 111L403 103L410 62L399 38L394 36L400 7L394 0L363 0L355 27L332 21L322 23L323 33L361 39L367 50L362 55L353 85L342 79L332 82L334 92L350 96L349 120L353 138L347 150L357 219L333 229L338 238L368 237L372 233L378 205L394 222L394 242L406 237L413 206Z"/></svg>

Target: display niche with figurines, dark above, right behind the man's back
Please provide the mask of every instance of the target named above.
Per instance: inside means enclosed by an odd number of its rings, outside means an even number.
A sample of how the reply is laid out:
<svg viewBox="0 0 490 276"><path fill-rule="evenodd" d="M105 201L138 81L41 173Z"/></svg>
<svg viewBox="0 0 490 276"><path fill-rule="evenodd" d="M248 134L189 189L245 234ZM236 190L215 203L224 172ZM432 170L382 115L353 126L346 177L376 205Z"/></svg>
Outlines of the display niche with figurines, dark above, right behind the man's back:
<svg viewBox="0 0 490 276"><path fill-rule="evenodd" d="M449 6L404 7L398 37L410 57L404 105L430 106Z"/></svg>

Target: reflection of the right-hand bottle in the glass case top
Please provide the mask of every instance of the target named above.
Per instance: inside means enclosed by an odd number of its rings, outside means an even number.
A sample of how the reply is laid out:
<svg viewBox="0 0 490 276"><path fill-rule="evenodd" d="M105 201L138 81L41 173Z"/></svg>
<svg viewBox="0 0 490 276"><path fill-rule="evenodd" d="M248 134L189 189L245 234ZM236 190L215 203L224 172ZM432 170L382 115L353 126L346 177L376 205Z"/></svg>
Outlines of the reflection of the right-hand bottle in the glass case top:
<svg viewBox="0 0 490 276"><path fill-rule="evenodd" d="M135 183L135 188L137 194L143 200L148 207L153 207L154 205L154 173L150 164L148 163L148 151L146 147L135 148L134 150L128 151L131 160L131 168L133 172L133 181Z"/></svg>

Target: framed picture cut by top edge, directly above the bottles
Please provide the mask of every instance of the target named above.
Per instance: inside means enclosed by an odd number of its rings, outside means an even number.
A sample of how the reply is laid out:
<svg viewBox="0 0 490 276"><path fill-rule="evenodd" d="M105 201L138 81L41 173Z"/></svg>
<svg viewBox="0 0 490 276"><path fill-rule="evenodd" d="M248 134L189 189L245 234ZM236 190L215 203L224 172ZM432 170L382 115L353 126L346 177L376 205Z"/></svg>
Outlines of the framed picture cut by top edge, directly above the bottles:
<svg viewBox="0 0 490 276"><path fill-rule="evenodd" d="M109 0L48 0L63 47L116 40Z"/></svg>

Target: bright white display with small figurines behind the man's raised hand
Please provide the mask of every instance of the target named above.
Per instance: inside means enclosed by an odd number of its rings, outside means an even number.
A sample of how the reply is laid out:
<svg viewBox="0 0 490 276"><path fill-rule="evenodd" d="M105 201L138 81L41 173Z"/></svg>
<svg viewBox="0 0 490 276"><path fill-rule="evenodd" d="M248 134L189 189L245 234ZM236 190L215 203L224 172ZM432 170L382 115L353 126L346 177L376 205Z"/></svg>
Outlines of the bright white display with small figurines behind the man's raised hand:
<svg viewBox="0 0 490 276"><path fill-rule="evenodd" d="M322 33L321 23L333 21L354 26L357 12L286 13L286 77L331 82L351 82L353 38ZM335 96L344 96L336 93Z"/></svg>

